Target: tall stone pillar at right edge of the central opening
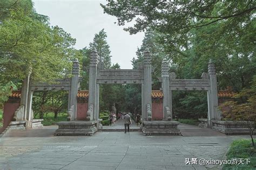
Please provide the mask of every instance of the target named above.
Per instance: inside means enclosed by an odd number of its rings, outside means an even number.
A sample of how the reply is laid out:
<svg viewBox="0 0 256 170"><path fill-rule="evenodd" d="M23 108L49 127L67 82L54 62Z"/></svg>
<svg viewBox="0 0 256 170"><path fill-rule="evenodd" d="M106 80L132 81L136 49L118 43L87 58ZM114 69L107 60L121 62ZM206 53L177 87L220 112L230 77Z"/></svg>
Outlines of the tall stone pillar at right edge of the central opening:
<svg viewBox="0 0 256 170"><path fill-rule="evenodd" d="M143 94L143 114L147 121L152 119L152 80L151 80L151 52L148 48L144 51L144 94Z"/></svg>

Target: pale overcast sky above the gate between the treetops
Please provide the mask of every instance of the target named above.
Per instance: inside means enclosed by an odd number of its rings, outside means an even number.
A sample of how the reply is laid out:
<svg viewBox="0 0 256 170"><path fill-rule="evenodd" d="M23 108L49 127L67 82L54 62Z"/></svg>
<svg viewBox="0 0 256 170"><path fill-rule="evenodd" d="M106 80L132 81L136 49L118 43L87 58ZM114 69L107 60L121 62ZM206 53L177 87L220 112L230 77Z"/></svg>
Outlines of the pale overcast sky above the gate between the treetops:
<svg viewBox="0 0 256 170"><path fill-rule="evenodd" d="M131 60L136 58L137 47L142 45L144 33L130 35L124 27L114 24L116 17L103 13L99 0L32 0L37 13L50 18L52 26L58 25L71 37L76 38L75 48L89 47L93 37L104 29L110 46L111 61L122 69L131 69ZM132 26L130 23L127 26ZM126 25L125 25L126 27Z"/></svg>

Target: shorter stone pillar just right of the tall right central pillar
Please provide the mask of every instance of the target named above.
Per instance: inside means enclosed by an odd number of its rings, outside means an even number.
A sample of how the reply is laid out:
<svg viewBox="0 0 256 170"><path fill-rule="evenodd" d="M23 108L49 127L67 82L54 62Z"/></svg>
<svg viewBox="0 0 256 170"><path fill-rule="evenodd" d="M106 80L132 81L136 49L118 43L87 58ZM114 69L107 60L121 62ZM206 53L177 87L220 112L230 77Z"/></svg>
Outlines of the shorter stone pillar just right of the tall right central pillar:
<svg viewBox="0 0 256 170"><path fill-rule="evenodd" d="M172 119L172 112L171 115L167 115L166 107L170 108L170 83L169 83L169 65L166 59L163 60L161 66L161 77L162 77L162 89L163 89L163 111L164 117L163 119L166 121L168 119ZM170 116L170 117L169 117Z"/></svg>

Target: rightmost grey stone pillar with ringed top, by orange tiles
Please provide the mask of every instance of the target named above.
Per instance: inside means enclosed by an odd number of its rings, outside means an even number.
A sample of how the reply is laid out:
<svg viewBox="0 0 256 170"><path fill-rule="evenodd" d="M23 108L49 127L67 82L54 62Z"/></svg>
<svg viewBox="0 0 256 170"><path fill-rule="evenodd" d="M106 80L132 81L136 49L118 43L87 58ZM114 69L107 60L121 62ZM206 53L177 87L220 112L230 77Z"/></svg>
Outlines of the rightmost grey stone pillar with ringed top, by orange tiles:
<svg viewBox="0 0 256 170"><path fill-rule="evenodd" d="M217 76L215 65L212 60L208 63L208 74L210 75L211 83L211 98L210 98L210 113L212 112L212 118L220 120L220 115L217 112L218 109L218 88L217 88Z"/></svg>

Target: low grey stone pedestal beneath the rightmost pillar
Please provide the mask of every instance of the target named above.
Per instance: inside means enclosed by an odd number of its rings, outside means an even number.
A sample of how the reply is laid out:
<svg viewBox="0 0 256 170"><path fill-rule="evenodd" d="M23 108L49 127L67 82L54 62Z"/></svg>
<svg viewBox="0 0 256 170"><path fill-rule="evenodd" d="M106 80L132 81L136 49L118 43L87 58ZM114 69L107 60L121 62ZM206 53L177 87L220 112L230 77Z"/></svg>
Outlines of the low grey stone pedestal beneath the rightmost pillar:
<svg viewBox="0 0 256 170"><path fill-rule="evenodd" d="M242 121L211 121L212 129L221 133L234 135L234 134L249 134L247 122ZM254 132L256 134L256 132Z"/></svg>

